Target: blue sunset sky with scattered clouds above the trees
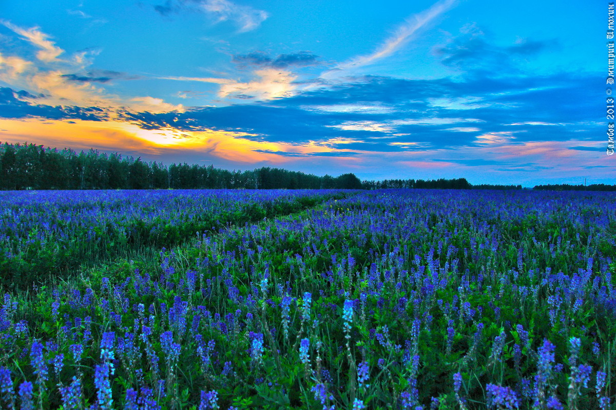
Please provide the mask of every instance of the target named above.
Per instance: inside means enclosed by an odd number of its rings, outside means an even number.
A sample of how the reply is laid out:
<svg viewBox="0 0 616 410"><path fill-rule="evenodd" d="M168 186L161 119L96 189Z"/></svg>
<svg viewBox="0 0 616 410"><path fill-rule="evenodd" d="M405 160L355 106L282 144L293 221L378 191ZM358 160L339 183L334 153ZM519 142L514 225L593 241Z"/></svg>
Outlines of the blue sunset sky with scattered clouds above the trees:
<svg viewBox="0 0 616 410"><path fill-rule="evenodd" d="M607 2L3 0L0 141L360 179L616 183Z"/></svg>

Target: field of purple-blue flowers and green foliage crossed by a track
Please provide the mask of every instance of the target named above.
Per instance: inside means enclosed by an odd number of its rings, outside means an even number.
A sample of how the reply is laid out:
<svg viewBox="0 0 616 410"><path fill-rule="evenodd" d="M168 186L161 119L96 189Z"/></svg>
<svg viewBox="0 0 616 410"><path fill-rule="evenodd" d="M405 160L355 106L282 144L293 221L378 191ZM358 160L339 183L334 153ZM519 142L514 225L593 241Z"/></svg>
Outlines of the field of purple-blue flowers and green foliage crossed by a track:
<svg viewBox="0 0 616 410"><path fill-rule="evenodd" d="M0 205L2 409L616 408L613 193Z"/></svg>

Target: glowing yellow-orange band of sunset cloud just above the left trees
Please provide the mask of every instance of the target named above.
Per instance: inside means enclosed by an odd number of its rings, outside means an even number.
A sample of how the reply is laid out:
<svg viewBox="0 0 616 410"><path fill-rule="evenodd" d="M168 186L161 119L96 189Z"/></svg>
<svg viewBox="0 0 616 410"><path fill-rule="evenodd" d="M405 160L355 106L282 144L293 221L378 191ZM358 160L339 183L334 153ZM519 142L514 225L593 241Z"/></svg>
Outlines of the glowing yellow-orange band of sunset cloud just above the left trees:
<svg viewBox="0 0 616 410"><path fill-rule="evenodd" d="M88 120L0 119L0 141L9 143L34 143L53 148L99 149L106 152L140 152L150 157L178 157L190 152L216 157L231 162L256 164L268 162L283 164L301 160L268 153L270 152L338 152L322 144L309 143L303 146L286 143L253 141L246 136L253 134L201 130L184 132L173 128L145 130L135 124ZM265 152L257 152L265 151ZM310 158L306 158L310 160ZM348 159L357 161L357 159Z"/></svg>

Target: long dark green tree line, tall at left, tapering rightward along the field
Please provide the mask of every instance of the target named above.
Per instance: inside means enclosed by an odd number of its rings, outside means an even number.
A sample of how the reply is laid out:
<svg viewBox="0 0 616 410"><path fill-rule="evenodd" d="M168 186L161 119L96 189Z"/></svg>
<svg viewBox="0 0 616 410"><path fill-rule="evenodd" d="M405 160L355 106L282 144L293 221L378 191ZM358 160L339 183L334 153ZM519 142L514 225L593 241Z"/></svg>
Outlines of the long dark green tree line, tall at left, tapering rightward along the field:
<svg viewBox="0 0 616 410"><path fill-rule="evenodd" d="M521 189L472 186L457 179L360 181L353 173L317 176L262 167L224 170L213 165L145 162L90 149L77 153L36 144L0 144L0 189Z"/></svg>

